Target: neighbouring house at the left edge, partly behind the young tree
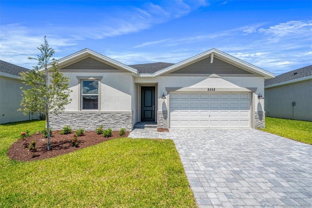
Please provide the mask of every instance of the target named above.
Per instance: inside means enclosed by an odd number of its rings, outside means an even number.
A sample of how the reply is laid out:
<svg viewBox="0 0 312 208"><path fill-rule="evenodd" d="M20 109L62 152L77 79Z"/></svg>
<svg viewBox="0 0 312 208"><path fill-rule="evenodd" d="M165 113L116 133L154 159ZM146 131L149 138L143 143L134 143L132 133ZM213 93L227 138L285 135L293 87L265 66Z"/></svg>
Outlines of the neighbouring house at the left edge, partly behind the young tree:
<svg viewBox="0 0 312 208"><path fill-rule="evenodd" d="M22 111L17 111L22 107L21 87L26 87L19 73L28 70L0 60L0 123L39 119L39 115L24 115Z"/></svg>

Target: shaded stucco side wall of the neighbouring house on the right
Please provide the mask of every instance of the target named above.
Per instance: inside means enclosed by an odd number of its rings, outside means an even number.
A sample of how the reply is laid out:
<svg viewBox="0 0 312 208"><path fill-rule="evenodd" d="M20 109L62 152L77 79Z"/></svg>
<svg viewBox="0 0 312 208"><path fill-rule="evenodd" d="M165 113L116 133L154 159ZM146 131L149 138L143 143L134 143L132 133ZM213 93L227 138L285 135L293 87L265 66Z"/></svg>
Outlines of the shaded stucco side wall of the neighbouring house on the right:
<svg viewBox="0 0 312 208"><path fill-rule="evenodd" d="M265 89L266 116L312 121L312 80Z"/></svg>

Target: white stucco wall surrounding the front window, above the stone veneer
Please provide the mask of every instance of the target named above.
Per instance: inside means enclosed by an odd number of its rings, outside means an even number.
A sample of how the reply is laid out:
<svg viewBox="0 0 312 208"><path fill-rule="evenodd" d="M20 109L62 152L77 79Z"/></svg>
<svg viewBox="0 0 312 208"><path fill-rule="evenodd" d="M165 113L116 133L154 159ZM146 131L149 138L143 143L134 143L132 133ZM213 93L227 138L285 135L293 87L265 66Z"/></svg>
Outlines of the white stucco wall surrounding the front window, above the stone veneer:
<svg viewBox="0 0 312 208"><path fill-rule="evenodd" d="M62 72L62 70L61 70ZM70 87L72 102L65 106L65 111L78 111L78 99L80 92L77 76L82 77L103 77L101 80L101 109L100 111L131 111L131 95L135 92L134 78L131 73L115 72L63 72L66 77L70 77Z"/></svg>

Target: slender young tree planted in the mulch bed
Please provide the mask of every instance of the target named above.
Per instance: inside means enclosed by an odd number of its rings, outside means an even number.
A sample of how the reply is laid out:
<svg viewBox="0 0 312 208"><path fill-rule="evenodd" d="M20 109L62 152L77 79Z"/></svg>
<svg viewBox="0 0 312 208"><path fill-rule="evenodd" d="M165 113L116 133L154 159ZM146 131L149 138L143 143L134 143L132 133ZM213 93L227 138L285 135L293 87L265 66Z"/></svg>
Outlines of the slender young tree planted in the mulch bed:
<svg viewBox="0 0 312 208"><path fill-rule="evenodd" d="M46 129L48 132L47 149L50 150L50 126L49 112L58 114L64 111L64 106L71 102L69 97L71 90L68 89L69 78L65 77L58 69L56 60L52 58L54 49L51 48L44 36L44 43L40 47L40 54L37 57L29 57L38 61L33 70L20 73L23 83L30 86L30 89L21 87L23 108L18 109L24 114L35 112L46 114ZM48 72L48 65L51 69ZM44 68L45 73L39 71Z"/></svg>

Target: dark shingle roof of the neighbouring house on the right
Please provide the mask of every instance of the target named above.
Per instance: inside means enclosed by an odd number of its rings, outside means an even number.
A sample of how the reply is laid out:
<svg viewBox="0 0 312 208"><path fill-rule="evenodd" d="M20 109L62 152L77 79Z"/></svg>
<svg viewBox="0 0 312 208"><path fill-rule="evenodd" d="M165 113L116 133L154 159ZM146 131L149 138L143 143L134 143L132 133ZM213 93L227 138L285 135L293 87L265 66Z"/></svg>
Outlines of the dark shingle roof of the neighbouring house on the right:
<svg viewBox="0 0 312 208"><path fill-rule="evenodd" d="M267 79L264 81L264 86L273 85L280 82L286 82L294 79L299 79L302 77L308 77L312 75L312 65L302 67L284 74L280 74L272 79Z"/></svg>

